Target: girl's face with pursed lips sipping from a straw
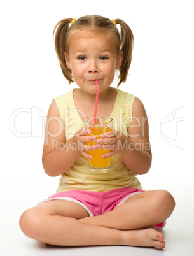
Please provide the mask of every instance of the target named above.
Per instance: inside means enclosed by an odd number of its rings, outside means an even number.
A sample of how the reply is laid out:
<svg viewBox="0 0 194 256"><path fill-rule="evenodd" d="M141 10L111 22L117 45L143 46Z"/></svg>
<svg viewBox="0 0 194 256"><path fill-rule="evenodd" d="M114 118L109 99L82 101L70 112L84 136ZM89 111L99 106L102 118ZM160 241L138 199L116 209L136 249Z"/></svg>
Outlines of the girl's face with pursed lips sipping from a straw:
<svg viewBox="0 0 194 256"><path fill-rule="evenodd" d="M104 92L113 82L123 53L118 54L110 36L87 30L71 36L69 45L65 57L74 81L85 92L95 94L95 80L99 80L99 93Z"/></svg>

